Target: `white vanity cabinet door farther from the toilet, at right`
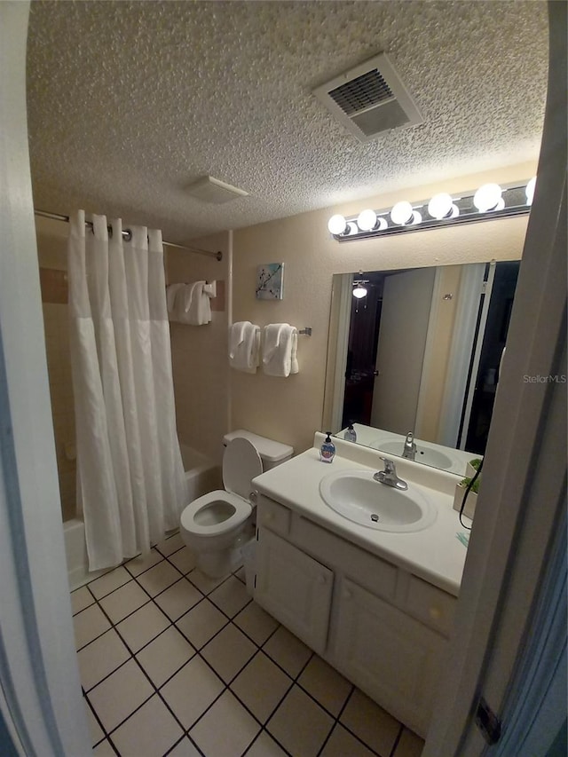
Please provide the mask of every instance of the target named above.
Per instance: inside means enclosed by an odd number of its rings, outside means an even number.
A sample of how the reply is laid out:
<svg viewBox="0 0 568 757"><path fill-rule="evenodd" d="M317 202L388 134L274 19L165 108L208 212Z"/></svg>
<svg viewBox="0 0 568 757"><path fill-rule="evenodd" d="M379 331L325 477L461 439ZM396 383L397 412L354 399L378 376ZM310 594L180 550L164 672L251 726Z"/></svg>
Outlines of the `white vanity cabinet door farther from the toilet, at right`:
<svg viewBox="0 0 568 757"><path fill-rule="evenodd" d="M405 612L343 580L333 657L344 674L424 736L445 640Z"/></svg>

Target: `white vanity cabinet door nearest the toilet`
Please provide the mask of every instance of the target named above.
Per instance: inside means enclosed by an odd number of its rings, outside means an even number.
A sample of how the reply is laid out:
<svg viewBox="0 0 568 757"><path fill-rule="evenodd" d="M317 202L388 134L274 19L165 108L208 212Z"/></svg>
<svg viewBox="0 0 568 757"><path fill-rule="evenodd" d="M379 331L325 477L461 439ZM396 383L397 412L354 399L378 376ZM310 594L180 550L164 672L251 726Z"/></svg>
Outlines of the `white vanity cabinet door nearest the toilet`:
<svg viewBox="0 0 568 757"><path fill-rule="evenodd" d="M334 574L265 528L258 529L256 602L312 650L325 651Z"/></svg>

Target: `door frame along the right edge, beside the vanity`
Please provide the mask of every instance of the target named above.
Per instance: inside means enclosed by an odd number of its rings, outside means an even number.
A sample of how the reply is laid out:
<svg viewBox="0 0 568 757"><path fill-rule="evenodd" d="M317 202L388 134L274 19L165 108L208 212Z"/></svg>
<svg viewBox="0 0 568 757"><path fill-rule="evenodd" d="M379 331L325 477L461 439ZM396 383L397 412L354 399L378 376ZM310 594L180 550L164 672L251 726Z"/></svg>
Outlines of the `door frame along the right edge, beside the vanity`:
<svg viewBox="0 0 568 757"><path fill-rule="evenodd" d="M531 378L566 375L566 5L549 3L548 21L539 179L454 635L422 757L485 753L474 720L478 698L483 695L498 715L506 711L565 509L565 384ZM556 732L548 723L542 733L552 739Z"/></svg>

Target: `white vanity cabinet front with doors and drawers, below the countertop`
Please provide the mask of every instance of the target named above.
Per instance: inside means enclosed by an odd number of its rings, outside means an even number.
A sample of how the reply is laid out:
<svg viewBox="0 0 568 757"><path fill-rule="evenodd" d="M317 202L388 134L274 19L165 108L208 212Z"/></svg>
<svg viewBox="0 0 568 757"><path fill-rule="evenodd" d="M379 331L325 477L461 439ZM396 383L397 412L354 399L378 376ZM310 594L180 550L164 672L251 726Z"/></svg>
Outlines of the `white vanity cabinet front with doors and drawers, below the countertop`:
<svg viewBox="0 0 568 757"><path fill-rule="evenodd" d="M455 597L259 496L255 599L425 736Z"/></svg>

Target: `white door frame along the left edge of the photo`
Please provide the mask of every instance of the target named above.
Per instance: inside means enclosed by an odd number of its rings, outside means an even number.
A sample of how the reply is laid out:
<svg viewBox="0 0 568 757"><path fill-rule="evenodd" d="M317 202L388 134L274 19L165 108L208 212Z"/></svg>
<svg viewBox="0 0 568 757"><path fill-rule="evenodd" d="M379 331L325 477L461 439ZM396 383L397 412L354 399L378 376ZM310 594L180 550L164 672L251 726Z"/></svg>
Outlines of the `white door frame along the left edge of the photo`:
<svg viewBox="0 0 568 757"><path fill-rule="evenodd" d="M0 3L0 710L19 754L91 753L61 527L28 154L29 3Z"/></svg>

